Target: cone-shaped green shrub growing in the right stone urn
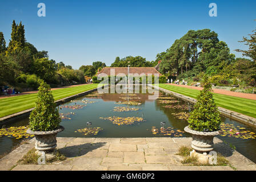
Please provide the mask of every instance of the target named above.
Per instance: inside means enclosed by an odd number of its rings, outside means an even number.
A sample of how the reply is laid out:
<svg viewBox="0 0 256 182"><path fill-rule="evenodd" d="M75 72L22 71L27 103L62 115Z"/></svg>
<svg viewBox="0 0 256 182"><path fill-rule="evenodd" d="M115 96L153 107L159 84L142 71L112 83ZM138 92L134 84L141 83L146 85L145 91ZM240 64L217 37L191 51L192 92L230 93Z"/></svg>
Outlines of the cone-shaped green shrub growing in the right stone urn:
<svg viewBox="0 0 256 182"><path fill-rule="evenodd" d="M208 77L203 77L203 90L197 97L197 103L189 117L189 127L195 131L217 131L221 123L218 107L211 93Z"/></svg>

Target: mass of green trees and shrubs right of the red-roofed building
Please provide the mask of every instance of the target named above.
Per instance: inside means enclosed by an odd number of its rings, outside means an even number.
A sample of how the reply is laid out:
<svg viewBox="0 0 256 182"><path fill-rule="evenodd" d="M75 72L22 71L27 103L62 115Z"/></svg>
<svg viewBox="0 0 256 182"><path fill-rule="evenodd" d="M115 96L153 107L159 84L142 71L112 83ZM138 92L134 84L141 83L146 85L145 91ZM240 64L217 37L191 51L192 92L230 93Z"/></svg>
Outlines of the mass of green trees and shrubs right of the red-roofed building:
<svg viewBox="0 0 256 182"><path fill-rule="evenodd" d="M209 29L189 30L182 38L175 40L165 52L157 54L162 60L159 72L166 76L193 78L199 81L202 75L211 77L211 82L228 85L237 84L256 86L256 34L250 39L243 38L249 46L248 51L236 49L250 59L235 57L230 53L227 43L218 39L218 34Z"/></svg>

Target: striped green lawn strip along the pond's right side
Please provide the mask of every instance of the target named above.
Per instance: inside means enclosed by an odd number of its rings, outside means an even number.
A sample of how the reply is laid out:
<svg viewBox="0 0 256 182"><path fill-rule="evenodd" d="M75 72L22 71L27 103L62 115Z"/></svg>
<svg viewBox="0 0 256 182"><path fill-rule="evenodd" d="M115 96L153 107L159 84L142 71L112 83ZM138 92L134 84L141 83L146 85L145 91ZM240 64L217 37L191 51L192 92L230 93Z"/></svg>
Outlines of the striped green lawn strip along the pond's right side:
<svg viewBox="0 0 256 182"><path fill-rule="evenodd" d="M183 94L185 96L189 96L192 98L197 98L200 92L200 90L182 88L180 86L167 85L167 84L159 84L159 87L179 93L179 94ZM218 93L214 93L213 97L216 104L220 107L256 118L256 101L255 100L249 100L246 98L239 98L239 97L233 97L233 96L226 96Z"/></svg>

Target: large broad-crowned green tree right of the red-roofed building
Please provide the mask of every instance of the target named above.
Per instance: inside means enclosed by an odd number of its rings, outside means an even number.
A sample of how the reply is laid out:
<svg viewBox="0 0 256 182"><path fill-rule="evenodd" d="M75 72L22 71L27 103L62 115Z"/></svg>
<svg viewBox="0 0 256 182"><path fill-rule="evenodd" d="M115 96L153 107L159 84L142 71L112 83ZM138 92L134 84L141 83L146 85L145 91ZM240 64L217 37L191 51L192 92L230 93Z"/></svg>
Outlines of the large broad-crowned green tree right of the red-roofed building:
<svg viewBox="0 0 256 182"><path fill-rule="evenodd" d="M217 33L203 29L189 30L181 39L175 40L166 52L159 53L157 60L162 60L159 65L162 74L177 72L178 76L182 76L192 70L190 73L204 71L211 75L232 63L234 57L227 44L219 41Z"/></svg>

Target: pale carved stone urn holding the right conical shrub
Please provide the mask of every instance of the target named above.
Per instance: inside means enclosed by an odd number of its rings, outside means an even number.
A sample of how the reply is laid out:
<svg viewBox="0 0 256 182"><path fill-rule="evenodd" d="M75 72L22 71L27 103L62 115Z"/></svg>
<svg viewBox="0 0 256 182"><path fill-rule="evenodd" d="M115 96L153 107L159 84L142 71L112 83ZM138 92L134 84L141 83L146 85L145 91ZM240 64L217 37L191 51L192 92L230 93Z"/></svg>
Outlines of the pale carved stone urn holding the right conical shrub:
<svg viewBox="0 0 256 182"><path fill-rule="evenodd" d="M195 151L202 153L213 150L213 138L219 134L219 131L195 131L191 130L189 126L186 126L184 130L192 135L191 147Z"/></svg>

